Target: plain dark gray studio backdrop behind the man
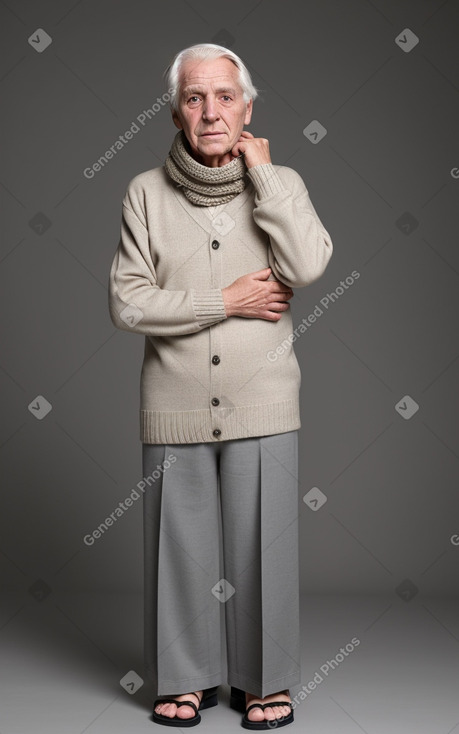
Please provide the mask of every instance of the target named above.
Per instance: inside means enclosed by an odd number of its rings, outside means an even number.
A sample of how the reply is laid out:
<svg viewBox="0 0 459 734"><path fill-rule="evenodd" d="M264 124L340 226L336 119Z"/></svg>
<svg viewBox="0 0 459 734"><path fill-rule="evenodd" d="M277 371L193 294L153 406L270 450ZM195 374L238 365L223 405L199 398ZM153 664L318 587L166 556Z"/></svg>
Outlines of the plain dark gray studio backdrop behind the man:
<svg viewBox="0 0 459 734"><path fill-rule="evenodd" d="M126 186L176 132L167 106L139 117L173 54L214 41L334 243L291 302L317 315L294 344L302 590L457 596L459 3L8 0L0 20L2 588L142 588L140 501L83 540L142 479L144 338L111 323L108 273Z"/></svg>

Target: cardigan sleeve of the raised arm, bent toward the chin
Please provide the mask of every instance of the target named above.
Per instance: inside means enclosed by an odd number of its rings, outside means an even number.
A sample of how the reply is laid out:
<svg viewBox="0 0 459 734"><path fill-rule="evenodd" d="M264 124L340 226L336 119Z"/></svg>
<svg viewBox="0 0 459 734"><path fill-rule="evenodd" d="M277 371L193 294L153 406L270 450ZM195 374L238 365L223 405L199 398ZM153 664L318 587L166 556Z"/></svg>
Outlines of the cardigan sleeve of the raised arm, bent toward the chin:
<svg viewBox="0 0 459 734"><path fill-rule="evenodd" d="M248 169L255 187L253 218L269 236L270 268L290 288L320 278L333 252L331 237L314 209L301 176L263 163Z"/></svg>

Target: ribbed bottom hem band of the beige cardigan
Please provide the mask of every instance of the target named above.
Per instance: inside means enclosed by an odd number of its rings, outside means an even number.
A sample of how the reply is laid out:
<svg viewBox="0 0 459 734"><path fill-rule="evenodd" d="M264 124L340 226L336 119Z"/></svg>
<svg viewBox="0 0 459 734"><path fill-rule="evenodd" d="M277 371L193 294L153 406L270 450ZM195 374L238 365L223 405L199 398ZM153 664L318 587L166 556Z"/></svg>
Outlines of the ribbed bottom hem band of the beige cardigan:
<svg viewBox="0 0 459 734"><path fill-rule="evenodd" d="M204 443L271 436L301 428L299 399L208 410L140 411L142 443ZM218 429L217 436L213 431Z"/></svg>

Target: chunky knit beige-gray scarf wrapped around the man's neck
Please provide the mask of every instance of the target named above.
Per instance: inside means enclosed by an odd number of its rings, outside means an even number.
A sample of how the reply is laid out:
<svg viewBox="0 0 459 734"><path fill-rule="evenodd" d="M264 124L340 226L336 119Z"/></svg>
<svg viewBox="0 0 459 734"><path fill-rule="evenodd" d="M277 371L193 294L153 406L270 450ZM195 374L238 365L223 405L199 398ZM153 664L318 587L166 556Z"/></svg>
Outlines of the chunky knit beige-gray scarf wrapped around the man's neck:
<svg viewBox="0 0 459 734"><path fill-rule="evenodd" d="M183 193L197 206L226 204L244 191L247 167L243 156L225 166L203 166L190 155L183 130L175 136L164 167Z"/></svg>

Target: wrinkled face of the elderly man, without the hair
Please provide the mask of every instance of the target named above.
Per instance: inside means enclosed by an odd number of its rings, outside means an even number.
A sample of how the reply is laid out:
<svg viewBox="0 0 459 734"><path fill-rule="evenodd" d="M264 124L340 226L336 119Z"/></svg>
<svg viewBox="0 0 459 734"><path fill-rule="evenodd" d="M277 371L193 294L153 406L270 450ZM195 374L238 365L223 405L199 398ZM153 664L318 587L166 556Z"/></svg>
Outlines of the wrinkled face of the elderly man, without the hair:
<svg viewBox="0 0 459 734"><path fill-rule="evenodd" d="M244 102L238 68L226 58L186 61L180 72L175 125L184 131L199 163L221 166L252 116Z"/></svg>

